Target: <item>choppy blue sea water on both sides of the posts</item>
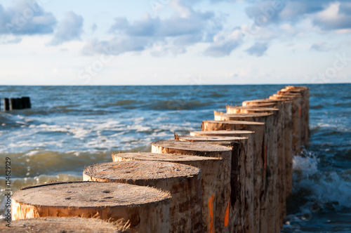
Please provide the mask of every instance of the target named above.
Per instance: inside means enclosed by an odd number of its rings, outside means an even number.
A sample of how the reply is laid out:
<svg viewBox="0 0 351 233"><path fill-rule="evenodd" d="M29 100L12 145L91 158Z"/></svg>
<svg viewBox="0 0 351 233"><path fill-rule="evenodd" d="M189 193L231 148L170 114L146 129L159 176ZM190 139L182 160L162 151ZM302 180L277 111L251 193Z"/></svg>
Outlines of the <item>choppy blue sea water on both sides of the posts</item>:
<svg viewBox="0 0 351 233"><path fill-rule="evenodd" d="M310 144L294 157L293 193L282 232L351 232L351 85L308 86ZM52 180L81 180L84 166L112 161L112 151L150 151L154 140L201 130L201 121L213 119L213 110L225 112L225 105L267 98L281 88L0 86L0 98L29 96L32 101L32 109L0 112L0 161L4 165L11 158L13 192Z"/></svg>

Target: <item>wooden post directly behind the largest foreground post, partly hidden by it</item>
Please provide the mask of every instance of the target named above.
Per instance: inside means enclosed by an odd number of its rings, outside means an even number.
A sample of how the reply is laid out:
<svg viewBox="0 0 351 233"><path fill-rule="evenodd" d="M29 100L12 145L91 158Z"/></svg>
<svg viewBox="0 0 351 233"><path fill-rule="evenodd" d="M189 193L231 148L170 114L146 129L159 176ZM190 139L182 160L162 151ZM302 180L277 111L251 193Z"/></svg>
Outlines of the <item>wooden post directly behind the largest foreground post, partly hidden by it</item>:
<svg viewBox="0 0 351 233"><path fill-rule="evenodd" d="M160 161L119 161L84 169L83 180L157 187L171 192L170 232L203 232L199 168Z"/></svg>

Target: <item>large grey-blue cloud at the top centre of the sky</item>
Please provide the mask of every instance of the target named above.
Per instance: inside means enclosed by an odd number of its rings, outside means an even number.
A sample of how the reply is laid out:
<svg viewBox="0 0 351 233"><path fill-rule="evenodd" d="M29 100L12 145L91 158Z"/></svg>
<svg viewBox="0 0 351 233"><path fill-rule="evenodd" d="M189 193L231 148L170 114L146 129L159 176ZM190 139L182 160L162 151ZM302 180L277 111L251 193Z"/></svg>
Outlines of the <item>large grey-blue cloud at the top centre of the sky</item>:
<svg viewBox="0 0 351 233"><path fill-rule="evenodd" d="M113 54L150 49L152 55L177 55L187 47L208 39L222 29L220 20L211 11L194 11L186 1L171 1L175 9L168 18L152 18L144 15L133 22L127 18L115 18L110 27L114 38L107 41L89 41L83 48L85 55L105 53L101 48L110 48Z"/></svg>

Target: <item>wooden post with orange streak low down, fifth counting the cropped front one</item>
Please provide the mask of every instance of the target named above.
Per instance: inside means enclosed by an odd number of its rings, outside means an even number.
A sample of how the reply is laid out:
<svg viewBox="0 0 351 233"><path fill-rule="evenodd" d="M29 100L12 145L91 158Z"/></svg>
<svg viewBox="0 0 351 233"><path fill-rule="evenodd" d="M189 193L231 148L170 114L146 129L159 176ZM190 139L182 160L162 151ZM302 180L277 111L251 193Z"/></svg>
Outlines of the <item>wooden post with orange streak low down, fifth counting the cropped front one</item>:
<svg viewBox="0 0 351 233"><path fill-rule="evenodd" d="M208 201L216 203L216 232L232 232L230 229L230 169L232 150L206 142L157 141L151 142L152 153L189 154L202 157L222 158L216 178L216 196Z"/></svg>

